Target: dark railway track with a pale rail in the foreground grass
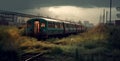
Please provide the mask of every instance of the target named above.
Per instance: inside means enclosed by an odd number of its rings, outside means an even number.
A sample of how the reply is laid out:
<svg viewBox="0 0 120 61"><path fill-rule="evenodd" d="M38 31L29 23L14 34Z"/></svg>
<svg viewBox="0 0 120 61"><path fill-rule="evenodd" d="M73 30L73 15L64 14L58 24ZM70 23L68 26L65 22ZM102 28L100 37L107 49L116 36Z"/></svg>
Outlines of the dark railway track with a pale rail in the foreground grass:
<svg viewBox="0 0 120 61"><path fill-rule="evenodd" d="M46 61L46 59L51 59L43 56L48 53L50 53L50 51L45 51L41 53L26 53L21 56L20 61Z"/></svg>

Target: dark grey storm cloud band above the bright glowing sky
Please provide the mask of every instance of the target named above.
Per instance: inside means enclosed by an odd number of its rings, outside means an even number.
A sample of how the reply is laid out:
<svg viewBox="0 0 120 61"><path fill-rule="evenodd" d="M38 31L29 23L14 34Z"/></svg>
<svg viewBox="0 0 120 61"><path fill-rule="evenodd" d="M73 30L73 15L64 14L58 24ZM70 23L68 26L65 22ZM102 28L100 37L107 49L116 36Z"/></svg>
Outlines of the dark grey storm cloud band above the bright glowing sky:
<svg viewBox="0 0 120 61"><path fill-rule="evenodd" d="M109 7L110 0L0 0L0 9L26 10L48 6ZM120 0L113 0L113 6L120 6Z"/></svg>

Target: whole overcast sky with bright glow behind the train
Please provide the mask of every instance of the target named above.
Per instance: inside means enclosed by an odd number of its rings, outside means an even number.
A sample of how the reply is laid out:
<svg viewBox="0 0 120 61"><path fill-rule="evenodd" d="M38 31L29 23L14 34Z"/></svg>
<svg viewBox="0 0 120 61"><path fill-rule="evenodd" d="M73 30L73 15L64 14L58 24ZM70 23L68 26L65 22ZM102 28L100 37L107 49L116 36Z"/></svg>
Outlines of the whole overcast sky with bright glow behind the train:
<svg viewBox="0 0 120 61"><path fill-rule="evenodd" d="M61 19L88 20L98 23L103 8L109 11L110 0L0 0L0 10L45 15ZM115 7L120 0L113 0L113 19ZM101 14L102 15L102 14Z"/></svg>

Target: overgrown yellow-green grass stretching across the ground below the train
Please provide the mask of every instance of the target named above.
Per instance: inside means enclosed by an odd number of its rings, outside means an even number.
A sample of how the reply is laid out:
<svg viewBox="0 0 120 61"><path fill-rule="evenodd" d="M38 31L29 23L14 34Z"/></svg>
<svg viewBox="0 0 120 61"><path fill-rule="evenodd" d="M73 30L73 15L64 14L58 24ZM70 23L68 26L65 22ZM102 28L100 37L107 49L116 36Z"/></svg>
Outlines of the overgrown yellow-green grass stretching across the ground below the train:
<svg viewBox="0 0 120 61"><path fill-rule="evenodd" d="M22 36L21 32L23 30L2 26L0 27L0 50L14 50L22 53L49 50L52 55L58 55L59 57L62 57L61 54L73 56L69 56L73 61L74 59L85 60L87 59L85 58L86 55L92 56L106 53L117 55L120 54L118 47L120 45L119 30L120 27L98 25L78 35L71 35L62 39L52 38L46 41L38 41L36 38Z"/></svg>

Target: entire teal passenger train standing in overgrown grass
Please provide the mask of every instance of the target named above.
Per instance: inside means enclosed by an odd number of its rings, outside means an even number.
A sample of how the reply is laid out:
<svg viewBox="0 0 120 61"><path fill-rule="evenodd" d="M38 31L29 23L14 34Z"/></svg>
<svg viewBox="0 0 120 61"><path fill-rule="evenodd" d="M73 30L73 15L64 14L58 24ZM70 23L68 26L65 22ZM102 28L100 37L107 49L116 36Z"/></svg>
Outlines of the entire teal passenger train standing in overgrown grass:
<svg viewBox="0 0 120 61"><path fill-rule="evenodd" d="M33 18L27 21L26 34L37 38L64 36L85 31L85 26L71 21L51 18Z"/></svg>

